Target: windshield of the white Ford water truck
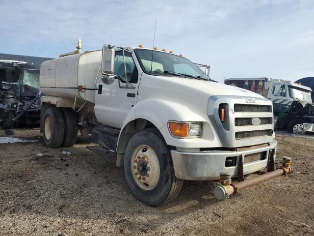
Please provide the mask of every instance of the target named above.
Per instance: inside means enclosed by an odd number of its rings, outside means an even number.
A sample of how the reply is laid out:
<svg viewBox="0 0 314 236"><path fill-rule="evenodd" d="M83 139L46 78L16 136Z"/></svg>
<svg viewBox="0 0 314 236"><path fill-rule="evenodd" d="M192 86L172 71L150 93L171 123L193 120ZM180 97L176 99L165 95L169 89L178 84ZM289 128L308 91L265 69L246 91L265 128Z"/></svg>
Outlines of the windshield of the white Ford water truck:
<svg viewBox="0 0 314 236"><path fill-rule="evenodd" d="M169 76L182 75L210 80L209 76L205 74L203 70L192 61L183 57L154 50L152 59L152 50L135 49L134 51L142 68L148 74L167 74Z"/></svg>

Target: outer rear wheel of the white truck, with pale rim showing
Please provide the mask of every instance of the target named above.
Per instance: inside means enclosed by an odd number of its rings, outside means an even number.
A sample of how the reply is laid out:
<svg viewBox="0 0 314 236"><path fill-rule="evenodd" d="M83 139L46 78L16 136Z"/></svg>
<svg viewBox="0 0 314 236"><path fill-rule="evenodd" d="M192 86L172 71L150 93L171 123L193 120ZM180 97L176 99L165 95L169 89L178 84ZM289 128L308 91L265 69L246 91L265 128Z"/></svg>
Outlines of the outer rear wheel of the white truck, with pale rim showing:
<svg viewBox="0 0 314 236"><path fill-rule="evenodd" d="M49 125L48 118L50 118L51 125ZM60 109L56 107L48 108L43 118L43 136L45 146L48 148L60 148L63 142L64 130L64 119Z"/></svg>

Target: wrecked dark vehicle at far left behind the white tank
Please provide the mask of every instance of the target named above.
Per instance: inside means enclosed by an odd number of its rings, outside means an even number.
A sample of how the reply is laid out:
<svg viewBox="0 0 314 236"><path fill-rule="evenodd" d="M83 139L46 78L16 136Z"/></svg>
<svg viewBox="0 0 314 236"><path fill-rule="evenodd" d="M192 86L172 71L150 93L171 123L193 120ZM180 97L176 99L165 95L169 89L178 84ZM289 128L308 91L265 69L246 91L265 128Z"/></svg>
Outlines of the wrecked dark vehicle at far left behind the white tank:
<svg viewBox="0 0 314 236"><path fill-rule="evenodd" d="M39 58L0 54L0 126L39 125Z"/></svg>

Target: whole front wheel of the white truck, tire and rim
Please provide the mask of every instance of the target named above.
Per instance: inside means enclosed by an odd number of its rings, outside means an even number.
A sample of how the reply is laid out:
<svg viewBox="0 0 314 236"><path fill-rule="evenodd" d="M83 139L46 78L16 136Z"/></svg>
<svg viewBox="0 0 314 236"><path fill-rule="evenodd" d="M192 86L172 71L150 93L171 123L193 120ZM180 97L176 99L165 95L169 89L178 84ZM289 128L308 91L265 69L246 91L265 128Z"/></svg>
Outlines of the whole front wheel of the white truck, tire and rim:
<svg viewBox="0 0 314 236"><path fill-rule="evenodd" d="M147 129L136 132L128 142L124 172L134 197L149 206L171 202L183 185L183 179L175 176L168 146Z"/></svg>

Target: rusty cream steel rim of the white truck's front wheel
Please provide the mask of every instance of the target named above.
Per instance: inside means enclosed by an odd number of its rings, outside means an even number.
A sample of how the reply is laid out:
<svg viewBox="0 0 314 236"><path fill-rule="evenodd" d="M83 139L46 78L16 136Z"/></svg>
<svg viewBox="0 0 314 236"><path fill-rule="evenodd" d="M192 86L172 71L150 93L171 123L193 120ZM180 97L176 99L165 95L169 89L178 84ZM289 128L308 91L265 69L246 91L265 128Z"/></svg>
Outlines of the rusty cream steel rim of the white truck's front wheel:
<svg viewBox="0 0 314 236"><path fill-rule="evenodd" d="M140 188L155 188L160 177L160 166L155 151L146 145L137 147L131 157L131 172Z"/></svg>

